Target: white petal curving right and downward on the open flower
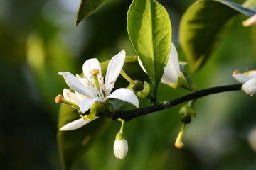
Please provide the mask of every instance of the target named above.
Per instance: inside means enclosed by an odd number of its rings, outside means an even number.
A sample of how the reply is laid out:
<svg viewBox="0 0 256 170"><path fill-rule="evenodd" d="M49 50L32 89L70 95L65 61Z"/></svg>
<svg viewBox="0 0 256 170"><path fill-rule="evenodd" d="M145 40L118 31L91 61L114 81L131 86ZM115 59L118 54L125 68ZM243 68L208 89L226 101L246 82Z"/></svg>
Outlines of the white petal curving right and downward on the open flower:
<svg viewBox="0 0 256 170"><path fill-rule="evenodd" d="M137 96L134 94L134 92L130 89L119 88L119 89L113 91L112 94L107 96L105 98L105 101L107 98L117 98L121 101L126 101L128 103L131 103L134 106L136 106L137 108L139 108L139 100L138 100Z"/></svg>

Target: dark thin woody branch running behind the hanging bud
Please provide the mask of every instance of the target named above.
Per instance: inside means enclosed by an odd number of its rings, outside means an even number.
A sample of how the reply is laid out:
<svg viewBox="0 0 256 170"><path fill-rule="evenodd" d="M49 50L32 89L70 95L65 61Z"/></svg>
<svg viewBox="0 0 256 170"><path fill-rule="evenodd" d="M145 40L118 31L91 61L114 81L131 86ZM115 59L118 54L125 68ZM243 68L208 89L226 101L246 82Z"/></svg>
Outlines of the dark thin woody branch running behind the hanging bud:
<svg viewBox="0 0 256 170"><path fill-rule="evenodd" d="M145 108L137 108L133 110L128 111L114 111L114 115L112 115L112 119L116 120L118 118L124 119L124 120L131 120L132 118L136 118L140 115L146 115L148 113L152 113L155 111L160 111L165 108L170 108L172 106L176 106L180 103L190 101L192 99L201 98L203 96L208 96L210 94L218 94L225 91L238 91L241 90L242 84L233 84L228 86L217 86L213 88L203 89L200 91L195 91L191 94L188 94L186 96L182 96L180 98L175 98L171 101L164 101L161 103L161 105L152 105L147 106Z"/></svg>

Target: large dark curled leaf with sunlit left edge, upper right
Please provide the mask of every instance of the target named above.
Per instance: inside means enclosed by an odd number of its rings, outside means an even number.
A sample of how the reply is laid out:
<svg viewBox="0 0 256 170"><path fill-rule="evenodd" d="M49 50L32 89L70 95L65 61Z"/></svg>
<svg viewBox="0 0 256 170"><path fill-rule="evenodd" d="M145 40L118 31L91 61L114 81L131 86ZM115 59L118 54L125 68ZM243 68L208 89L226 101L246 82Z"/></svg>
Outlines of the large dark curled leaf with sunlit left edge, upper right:
<svg viewBox="0 0 256 170"><path fill-rule="evenodd" d="M252 16L256 11L230 1L201 0L183 14L180 42L192 72L198 71L218 47L227 21L238 13Z"/></svg>

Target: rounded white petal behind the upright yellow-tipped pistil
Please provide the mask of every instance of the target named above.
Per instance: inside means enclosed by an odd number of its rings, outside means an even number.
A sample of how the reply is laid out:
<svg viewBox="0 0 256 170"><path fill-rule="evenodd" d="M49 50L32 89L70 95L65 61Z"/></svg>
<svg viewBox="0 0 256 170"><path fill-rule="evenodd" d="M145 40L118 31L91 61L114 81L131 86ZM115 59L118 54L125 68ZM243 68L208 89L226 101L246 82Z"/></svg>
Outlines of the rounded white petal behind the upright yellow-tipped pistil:
<svg viewBox="0 0 256 170"><path fill-rule="evenodd" d="M86 60L85 63L82 65L82 72L84 73L85 77L87 77L88 79L91 79L90 77L92 77L92 74L90 74L92 69L98 69L101 77L102 74L101 74L100 62L96 58Z"/></svg>

